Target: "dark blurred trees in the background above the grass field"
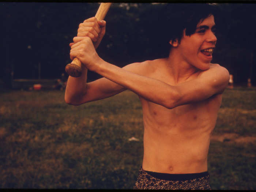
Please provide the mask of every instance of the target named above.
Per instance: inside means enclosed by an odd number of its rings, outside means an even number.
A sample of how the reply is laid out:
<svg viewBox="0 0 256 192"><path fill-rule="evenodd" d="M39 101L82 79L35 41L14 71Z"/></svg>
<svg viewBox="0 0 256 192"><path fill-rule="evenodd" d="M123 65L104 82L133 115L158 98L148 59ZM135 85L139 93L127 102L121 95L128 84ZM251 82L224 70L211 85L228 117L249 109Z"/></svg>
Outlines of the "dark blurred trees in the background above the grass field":
<svg viewBox="0 0 256 192"><path fill-rule="evenodd" d="M132 62L157 59L166 47L159 44L165 4L113 3L105 18L106 35L97 52L106 61L123 67ZM69 59L69 42L79 23L94 16L98 3L1 2L1 79L59 78ZM212 62L226 67L234 83L255 85L256 4L219 4L217 48ZM162 22L162 23L161 23ZM162 28L161 28L162 26ZM13 74L12 74L13 72ZM93 72L89 80L99 78Z"/></svg>

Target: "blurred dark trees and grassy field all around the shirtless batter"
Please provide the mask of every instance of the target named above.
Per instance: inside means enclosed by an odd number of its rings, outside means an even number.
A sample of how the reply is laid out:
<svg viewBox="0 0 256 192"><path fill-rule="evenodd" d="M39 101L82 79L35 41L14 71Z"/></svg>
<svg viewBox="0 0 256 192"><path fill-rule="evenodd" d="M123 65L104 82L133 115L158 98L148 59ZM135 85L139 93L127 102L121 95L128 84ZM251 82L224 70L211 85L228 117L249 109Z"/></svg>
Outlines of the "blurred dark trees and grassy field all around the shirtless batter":
<svg viewBox="0 0 256 192"><path fill-rule="evenodd" d="M165 6L113 3L99 56L120 67L166 56L161 31L175 26L162 19ZM80 106L64 101L69 43L98 7L0 3L0 188L132 189L135 184L143 158L138 96L127 90ZM256 4L221 3L218 9L212 63L226 67L233 83L223 93L211 135L208 172L212 189L253 190ZM88 73L89 81L99 77Z"/></svg>

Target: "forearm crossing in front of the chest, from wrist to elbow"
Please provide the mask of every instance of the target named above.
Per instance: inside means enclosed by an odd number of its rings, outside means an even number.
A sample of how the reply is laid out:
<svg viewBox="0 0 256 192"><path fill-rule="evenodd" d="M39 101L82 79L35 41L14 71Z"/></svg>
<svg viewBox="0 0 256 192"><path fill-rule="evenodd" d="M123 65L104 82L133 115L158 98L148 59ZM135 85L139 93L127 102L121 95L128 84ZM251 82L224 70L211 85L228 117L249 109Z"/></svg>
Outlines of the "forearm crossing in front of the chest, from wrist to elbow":
<svg viewBox="0 0 256 192"><path fill-rule="evenodd" d="M177 99L177 90L174 86L170 86L160 80L138 75L116 65L112 65L99 59L95 67L92 69L103 77L112 80L138 94L139 96L165 106L172 108Z"/></svg>

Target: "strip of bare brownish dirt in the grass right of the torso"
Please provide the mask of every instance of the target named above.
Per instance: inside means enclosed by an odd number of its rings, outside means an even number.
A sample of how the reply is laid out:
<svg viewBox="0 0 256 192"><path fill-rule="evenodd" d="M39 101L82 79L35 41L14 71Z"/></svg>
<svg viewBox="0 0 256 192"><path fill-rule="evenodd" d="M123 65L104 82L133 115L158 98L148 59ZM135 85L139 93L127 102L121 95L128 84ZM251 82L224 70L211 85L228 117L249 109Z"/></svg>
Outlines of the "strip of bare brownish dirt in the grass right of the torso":
<svg viewBox="0 0 256 192"><path fill-rule="evenodd" d="M211 140L219 142L255 143L256 136L240 136L236 133L224 133L222 135L211 135Z"/></svg>

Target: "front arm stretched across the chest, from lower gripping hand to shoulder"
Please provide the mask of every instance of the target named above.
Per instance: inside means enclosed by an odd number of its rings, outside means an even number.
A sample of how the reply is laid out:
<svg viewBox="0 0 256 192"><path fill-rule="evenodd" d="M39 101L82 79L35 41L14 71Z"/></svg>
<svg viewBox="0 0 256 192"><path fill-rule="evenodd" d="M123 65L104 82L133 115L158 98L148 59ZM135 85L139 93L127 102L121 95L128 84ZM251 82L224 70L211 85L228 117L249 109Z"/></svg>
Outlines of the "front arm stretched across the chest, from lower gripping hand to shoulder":
<svg viewBox="0 0 256 192"><path fill-rule="evenodd" d="M228 84L228 71L214 65L195 80L177 86L135 74L103 61L96 53L90 38L71 47L71 59L78 57L86 67L153 103L172 109L179 105L202 101L222 93Z"/></svg>

